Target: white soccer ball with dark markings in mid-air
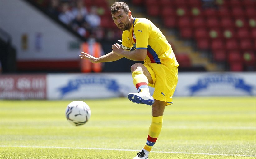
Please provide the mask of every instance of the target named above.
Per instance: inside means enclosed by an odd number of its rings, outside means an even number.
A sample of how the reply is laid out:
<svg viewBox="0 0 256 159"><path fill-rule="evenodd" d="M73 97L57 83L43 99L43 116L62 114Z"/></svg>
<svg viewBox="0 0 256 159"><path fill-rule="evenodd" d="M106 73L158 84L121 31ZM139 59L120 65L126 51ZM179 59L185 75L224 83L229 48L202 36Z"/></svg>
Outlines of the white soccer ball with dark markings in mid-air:
<svg viewBox="0 0 256 159"><path fill-rule="evenodd" d="M72 101L67 105L66 118L74 126L84 125L90 116L90 107L83 101Z"/></svg>

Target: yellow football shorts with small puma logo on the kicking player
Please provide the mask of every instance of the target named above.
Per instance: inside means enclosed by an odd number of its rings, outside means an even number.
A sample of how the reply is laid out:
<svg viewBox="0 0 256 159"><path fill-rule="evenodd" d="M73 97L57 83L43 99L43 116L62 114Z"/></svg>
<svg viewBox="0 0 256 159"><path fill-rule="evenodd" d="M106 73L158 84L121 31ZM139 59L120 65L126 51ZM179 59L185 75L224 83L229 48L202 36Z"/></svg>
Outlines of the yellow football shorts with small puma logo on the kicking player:
<svg viewBox="0 0 256 159"><path fill-rule="evenodd" d="M171 105L172 96L178 83L178 67L167 67L157 63L146 63L147 68L153 79L153 84L148 84L155 88L153 98L159 101L167 102Z"/></svg>

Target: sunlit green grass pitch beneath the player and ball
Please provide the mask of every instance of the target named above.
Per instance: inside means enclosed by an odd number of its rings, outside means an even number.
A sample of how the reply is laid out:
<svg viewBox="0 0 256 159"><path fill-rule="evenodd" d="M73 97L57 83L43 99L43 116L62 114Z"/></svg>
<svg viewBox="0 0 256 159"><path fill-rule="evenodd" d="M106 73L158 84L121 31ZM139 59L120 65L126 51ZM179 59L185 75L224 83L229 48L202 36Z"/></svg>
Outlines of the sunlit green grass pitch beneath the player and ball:
<svg viewBox="0 0 256 159"><path fill-rule="evenodd" d="M70 125L71 101L0 101L1 158L133 158L151 107L126 98L83 100L89 122ZM149 158L255 158L255 97L175 97Z"/></svg>

